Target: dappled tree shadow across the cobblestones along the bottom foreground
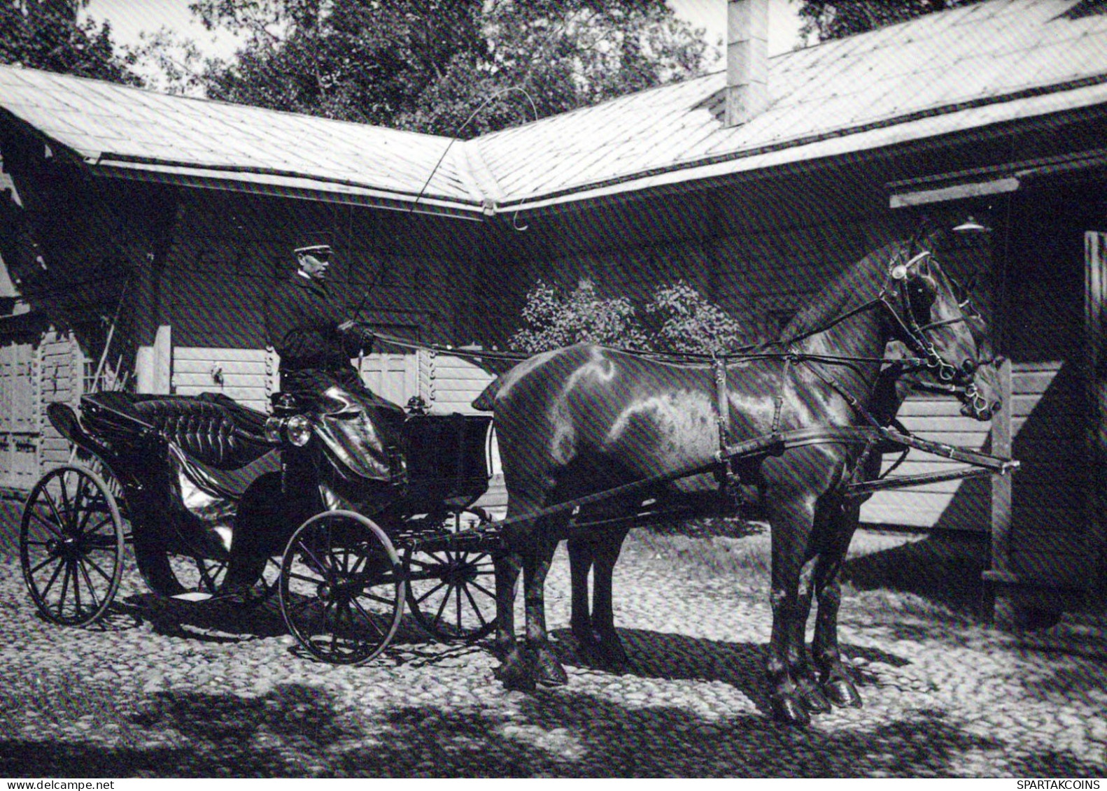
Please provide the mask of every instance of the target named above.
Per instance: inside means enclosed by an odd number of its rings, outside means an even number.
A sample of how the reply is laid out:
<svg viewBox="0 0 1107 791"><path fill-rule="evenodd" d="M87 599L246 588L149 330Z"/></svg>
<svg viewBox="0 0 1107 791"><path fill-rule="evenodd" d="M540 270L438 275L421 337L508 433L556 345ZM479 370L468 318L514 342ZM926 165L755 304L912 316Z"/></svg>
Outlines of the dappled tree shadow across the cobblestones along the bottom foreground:
<svg viewBox="0 0 1107 791"><path fill-rule="evenodd" d="M288 685L250 699L158 693L115 714L123 746L8 737L0 741L0 773L943 777L956 774L966 754L994 773L1098 771L1065 753L1008 754L1000 741L927 710L831 733L784 728L759 716L707 720L676 707L637 708L571 690L523 696L518 714L509 716L480 708L343 709L323 689Z"/></svg>

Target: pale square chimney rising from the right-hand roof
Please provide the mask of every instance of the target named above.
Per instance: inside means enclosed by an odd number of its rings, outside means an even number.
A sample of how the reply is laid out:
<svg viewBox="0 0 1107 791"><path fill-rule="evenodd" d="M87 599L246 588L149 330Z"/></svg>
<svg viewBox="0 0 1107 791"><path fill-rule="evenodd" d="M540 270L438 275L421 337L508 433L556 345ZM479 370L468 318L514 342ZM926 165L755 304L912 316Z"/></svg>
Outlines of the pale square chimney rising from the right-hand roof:
<svg viewBox="0 0 1107 791"><path fill-rule="evenodd" d="M768 2L727 0L726 126L744 124L768 104Z"/></svg>

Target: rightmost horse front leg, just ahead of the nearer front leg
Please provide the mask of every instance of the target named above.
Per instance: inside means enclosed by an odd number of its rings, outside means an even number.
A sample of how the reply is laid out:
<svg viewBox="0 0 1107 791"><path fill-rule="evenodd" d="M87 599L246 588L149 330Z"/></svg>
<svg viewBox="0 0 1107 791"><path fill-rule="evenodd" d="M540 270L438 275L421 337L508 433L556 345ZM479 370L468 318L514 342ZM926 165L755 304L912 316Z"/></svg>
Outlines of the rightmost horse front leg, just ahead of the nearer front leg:
<svg viewBox="0 0 1107 791"><path fill-rule="evenodd" d="M861 706L861 696L841 662L838 647L838 608L841 605L841 569L846 551L860 520L859 502L846 502L837 510L830 545L820 555L815 570L818 614L811 654L818 670L819 686L835 706Z"/></svg>

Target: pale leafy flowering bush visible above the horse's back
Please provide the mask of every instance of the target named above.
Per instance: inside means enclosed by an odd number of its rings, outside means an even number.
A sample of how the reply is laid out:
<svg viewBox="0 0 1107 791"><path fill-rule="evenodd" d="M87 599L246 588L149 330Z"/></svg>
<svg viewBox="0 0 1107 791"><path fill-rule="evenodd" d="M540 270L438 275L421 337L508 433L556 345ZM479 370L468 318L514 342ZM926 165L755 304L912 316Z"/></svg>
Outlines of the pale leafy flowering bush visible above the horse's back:
<svg viewBox="0 0 1107 791"><path fill-rule="evenodd" d="M508 345L537 354L591 341L639 351L722 354L743 340L742 327L683 281L662 285L635 305L603 296L591 280L570 292L542 281L527 294L523 327Z"/></svg>

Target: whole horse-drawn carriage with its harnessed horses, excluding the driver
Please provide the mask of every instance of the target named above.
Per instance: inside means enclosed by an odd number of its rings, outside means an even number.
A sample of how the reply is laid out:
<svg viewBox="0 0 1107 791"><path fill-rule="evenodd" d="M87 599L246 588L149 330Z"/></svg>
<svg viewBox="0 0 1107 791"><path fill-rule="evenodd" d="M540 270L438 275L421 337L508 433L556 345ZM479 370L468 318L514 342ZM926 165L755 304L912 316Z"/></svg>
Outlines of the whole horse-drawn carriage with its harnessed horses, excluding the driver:
<svg viewBox="0 0 1107 791"><path fill-rule="evenodd" d="M733 507L717 496L753 486L773 524L773 711L805 724L831 704L860 702L837 644L839 573L860 498L1002 475L1017 462L894 428L908 383L955 395L980 420L1001 406L986 324L918 240L878 250L828 283L785 339L710 362L580 344L517 365L487 394L508 489L507 518L495 523L472 509L488 481L487 417L410 416L392 465L402 472L370 483L354 446L333 443L335 421L356 419L341 393L311 409L278 399L268 416L214 396L85 396L80 418L54 405L51 420L101 459L113 483L75 465L49 472L24 510L23 572L44 617L94 621L118 586L126 519L155 592L249 602L276 587L289 631L321 659L376 656L406 600L436 636L476 638L495 627L505 684L561 684L542 603L558 541L584 537L599 548L575 553L570 541L570 560L594 561L602 581L589 613L587 568L583 576L573 570L573 633L598 635L618 654L610 580L627 530L704 489ZM904 358L884 356L892 342ZM966 466L879 478L889 446ZM304 481L313 501L296 495ZM524 645L514 634L520 571Z"/></svg>

